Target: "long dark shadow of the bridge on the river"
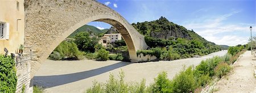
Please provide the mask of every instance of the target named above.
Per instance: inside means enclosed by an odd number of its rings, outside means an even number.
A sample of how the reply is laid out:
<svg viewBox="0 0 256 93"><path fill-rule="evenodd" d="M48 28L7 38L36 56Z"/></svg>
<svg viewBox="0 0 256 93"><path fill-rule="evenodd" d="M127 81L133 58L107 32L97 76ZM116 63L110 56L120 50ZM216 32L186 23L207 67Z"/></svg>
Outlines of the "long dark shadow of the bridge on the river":
<svg viewBox="0 0 256 93"><path fill-rule="evenodd" d="M35 76L31 79L30 86L42 86L44 88L50 88L60 86L63 84L80 81L82 79L90 78L107 71L117 69L122 66L130 65L131 62L118 62L116 64L100 67L98 69L82 71L79 73L63 74L63 75L49 75L49 76Z"/></svg>

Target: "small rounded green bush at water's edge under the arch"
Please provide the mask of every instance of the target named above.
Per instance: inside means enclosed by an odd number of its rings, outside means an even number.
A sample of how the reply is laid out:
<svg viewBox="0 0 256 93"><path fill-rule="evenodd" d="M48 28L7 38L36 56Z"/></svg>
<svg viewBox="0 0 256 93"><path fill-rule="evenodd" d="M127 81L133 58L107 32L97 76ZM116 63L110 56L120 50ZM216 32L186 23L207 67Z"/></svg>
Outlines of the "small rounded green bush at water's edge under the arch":
<svg viewBox="0 0 256 93"><path fill-rule="evenodd" d="M96 60L100 60L100 61L106 61L109 58L109 52L105 49L100 49L96 52L97 56L96 56Z"/></svg>

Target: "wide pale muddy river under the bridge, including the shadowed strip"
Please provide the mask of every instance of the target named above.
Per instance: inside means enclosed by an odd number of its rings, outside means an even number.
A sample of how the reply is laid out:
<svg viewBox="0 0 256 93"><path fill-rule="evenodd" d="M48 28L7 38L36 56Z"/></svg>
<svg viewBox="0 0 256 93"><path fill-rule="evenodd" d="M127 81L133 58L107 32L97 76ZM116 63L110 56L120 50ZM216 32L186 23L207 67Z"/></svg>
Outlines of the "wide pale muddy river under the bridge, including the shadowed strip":
<svg viewBox="0 0 256 93"><path fill-rule="evenodd" d="M168 78L173 78L183 65L198 65L202 60L213 56L224 56L226 50L208 54L201 58L186 58L175 61L159 61L130 63L120 61L51 61L42 64L34 77L34 84L44 86L46 92L84 92L92 86L92 81L106 82L109 74L115 77L121 69L125 72L125 81L141 81L146 84L154 82L154 78L161 71L167 71Z"/></svg>

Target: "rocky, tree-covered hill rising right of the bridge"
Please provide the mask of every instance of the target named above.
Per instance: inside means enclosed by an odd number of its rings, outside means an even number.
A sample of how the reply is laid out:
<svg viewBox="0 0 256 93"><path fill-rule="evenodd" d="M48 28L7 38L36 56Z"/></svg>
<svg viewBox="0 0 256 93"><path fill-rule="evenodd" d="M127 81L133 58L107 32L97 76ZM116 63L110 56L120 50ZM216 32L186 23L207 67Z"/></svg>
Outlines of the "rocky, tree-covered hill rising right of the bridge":
<svg viewBox="0 0 256 93"><path fill-rule="evenodd" d="M138 22L137 24L133 23L132 25L142 35L155 37L157 39L176 40L177 38L183 38L187 40L199 40L203 43L211 43L197 35L193 29L188 30L183 26L169 22L169 20L163 16L158 20L142 23ZM214 43L211 44L215 45Z"/></svg>

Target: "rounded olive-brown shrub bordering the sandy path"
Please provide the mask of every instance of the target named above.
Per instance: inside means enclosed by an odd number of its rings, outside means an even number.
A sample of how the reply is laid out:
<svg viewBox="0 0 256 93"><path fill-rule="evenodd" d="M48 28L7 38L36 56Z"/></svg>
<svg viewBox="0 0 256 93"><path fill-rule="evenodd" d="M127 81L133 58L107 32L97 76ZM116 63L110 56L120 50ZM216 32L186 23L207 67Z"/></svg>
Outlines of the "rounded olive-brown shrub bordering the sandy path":
<svg viewBox="0 0 256 93"><path fill-rule="evenodd" d="M230 70L231 67L228 64L222 62L221 64L217 65L214 72L218 78L221 78L222 76L228 74Z"/></svg>

